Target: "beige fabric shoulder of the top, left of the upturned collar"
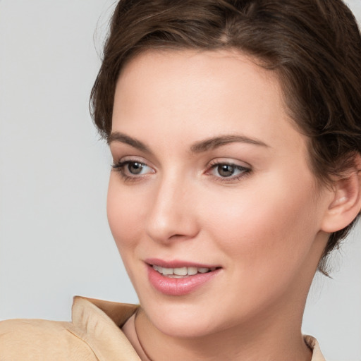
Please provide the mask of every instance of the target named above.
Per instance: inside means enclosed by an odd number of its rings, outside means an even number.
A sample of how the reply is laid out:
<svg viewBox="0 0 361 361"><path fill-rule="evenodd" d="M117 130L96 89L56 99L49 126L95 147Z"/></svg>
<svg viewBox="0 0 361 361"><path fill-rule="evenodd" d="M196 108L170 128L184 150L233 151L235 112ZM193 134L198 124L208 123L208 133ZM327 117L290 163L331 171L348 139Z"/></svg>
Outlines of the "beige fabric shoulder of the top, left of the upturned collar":
<svg viewBox="0 0 361 361"><path fill-rule="evenodd" d="M0 322L0 359L97 360L70 322L12 319Z"/></svg>

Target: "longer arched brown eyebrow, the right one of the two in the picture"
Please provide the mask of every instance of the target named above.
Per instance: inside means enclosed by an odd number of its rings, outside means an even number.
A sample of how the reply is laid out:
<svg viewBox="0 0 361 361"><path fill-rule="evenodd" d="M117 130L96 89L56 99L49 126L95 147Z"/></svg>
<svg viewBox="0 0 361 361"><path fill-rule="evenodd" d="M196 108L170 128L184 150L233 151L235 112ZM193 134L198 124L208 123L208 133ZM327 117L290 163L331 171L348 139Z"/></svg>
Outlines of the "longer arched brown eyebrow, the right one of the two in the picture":
<svg viewBox="0 0 361 361"><path fill-rule="evenodd" d="M261 140L252 139L250 137L245 137L243 135L221 135L220 137L212 137L200 142L196 142L190 147L190 152L192 153L202 153L207 152L208 150L216 149L222 145L228 143L247 143L251 145L259 145L261 147L269 147L266 143Z"/></svg>

